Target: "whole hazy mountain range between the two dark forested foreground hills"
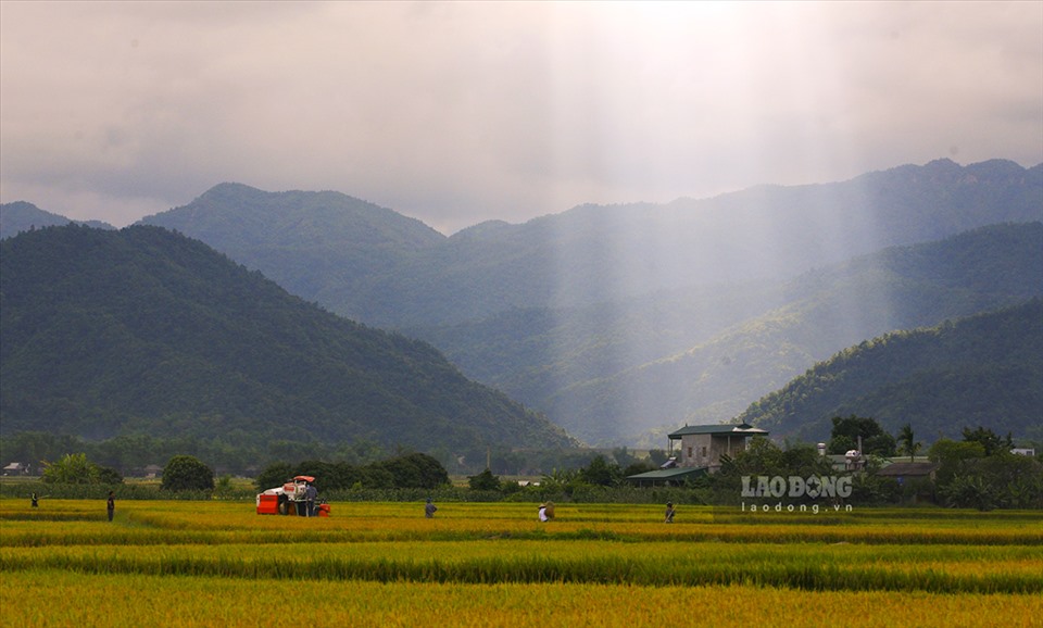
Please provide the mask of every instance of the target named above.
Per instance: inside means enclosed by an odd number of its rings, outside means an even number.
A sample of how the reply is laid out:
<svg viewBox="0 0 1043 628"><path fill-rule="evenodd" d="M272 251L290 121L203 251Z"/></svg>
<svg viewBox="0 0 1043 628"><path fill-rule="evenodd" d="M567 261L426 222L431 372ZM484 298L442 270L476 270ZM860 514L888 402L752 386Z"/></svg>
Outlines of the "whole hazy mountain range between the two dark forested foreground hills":
<svg viewBox="0 0 1043 628"><path fill-rule="evenodd" d="M589 443L663 447L845 348L1039 297L1041 219L1043 164L939 160L451 237L339 192L238 184L141 224L430 342Z"/></svg>

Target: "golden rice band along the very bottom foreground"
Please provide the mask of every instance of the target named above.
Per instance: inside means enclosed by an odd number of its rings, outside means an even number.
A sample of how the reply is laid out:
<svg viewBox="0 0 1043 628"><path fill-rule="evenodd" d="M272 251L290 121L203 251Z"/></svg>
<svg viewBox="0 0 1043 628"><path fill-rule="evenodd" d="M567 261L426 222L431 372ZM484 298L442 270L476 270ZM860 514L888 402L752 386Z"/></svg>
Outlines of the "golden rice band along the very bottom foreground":
<svg viewBox="0 0 1043 628"><path fill-rule="evenodd" d="M32 591L32 598L26 593ZM288 603L287 600L292 600ZM662 627L706 610L708 624L865 627L1038 625L1043 596L894 591L808 592L752 585L305 583L224 577L114 575L60 570L4 574L0 626L331 626L589 625Z"/></svg>

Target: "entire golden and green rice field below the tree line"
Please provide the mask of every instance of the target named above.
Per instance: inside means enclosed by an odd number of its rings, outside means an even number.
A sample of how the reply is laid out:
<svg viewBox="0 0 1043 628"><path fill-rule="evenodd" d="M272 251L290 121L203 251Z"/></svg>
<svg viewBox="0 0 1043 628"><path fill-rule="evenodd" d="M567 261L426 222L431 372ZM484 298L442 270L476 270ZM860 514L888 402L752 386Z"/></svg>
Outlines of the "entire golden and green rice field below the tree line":
<svg viewBox="0 0 1043 628"><path fill-rule="evenodd" d="M1043 513L0 500L0 626L1039 626ZM854 617L855 619L852 619Z"/></svg>

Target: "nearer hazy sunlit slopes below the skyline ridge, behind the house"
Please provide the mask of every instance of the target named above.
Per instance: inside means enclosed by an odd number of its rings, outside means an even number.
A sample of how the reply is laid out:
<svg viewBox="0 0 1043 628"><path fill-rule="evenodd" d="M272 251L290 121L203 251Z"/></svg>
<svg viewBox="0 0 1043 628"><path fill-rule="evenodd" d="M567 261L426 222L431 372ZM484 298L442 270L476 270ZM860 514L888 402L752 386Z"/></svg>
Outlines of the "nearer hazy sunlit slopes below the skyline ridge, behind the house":
<svg viewBox="0 0 1043 628"><path fill-rule="evenodd" d="M642 431L733 417L862 340L1041 294L1043 224L1008 224L890 248L777 286L517 310L414 334L571 434L634 444Z"/></svg>

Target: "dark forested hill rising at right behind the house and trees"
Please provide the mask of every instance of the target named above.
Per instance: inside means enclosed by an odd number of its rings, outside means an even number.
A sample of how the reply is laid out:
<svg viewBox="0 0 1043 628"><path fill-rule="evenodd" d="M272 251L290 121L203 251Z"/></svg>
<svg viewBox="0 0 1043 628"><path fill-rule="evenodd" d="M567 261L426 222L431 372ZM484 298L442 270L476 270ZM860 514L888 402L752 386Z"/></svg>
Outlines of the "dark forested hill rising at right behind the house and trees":
<svg viewBox="0 0 1043 628"><path fill-rule="evenodd" d="M833 416L870 416L923 438L1043 425L1043 300L888 334L816 364L739 418L772 436L825 440Z"/></svg>

